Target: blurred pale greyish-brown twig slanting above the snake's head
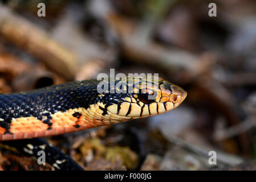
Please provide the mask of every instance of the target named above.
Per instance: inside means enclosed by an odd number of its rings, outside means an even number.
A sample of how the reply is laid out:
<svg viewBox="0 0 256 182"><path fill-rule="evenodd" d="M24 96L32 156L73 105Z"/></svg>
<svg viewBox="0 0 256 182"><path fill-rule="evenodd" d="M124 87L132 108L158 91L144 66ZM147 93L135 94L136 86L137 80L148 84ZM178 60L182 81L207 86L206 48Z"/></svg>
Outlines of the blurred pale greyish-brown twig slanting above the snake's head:
<svg viewBox="0 0 256 182"><path fill-rule="evenodd" d="M151 27L147 22L142 26L129 22L120 15L109 14L109 24L118 32L123 43L123 53L129 60L140 61L166 72L178 71L179 81L189 82L195 77L209 72L215 58L210 53L193 55L181 49L167 49L150 40L144 30ZM150 34L151 31L147 31ZM182 74L181 74L182 73Z"/></svg>

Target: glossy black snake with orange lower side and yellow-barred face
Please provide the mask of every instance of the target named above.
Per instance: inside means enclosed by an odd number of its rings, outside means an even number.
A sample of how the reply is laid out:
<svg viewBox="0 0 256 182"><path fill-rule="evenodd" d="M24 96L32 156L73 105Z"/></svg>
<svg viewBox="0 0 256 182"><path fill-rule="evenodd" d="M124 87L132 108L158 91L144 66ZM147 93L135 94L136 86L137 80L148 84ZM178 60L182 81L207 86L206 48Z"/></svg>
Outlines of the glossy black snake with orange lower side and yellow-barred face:
<svg viewBox="0 0 256 182"><path fill-rule="evenodd" d="M0 141L13 140L13 146L24 143L20 149L31 155L47 148L56 152L57 148L35 138L152 117L176 108L186 96L180 86L155 76L72 81L0 94ZM70 158L62 159L51 163Z"/></svg>

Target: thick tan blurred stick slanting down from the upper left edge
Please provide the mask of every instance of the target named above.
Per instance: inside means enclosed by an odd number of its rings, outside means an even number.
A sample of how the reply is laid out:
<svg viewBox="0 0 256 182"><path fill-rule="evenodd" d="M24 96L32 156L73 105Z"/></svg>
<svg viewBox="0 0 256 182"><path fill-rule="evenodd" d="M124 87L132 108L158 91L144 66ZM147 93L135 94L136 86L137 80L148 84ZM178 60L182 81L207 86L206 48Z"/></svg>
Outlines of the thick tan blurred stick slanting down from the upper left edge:
<svg viewBox="0 0 256 182"><path fill-rule="evenodd" d="M52 40L45 31L0 3L0 35L42 60L68 80L75 73L76 56Z"/></svg>

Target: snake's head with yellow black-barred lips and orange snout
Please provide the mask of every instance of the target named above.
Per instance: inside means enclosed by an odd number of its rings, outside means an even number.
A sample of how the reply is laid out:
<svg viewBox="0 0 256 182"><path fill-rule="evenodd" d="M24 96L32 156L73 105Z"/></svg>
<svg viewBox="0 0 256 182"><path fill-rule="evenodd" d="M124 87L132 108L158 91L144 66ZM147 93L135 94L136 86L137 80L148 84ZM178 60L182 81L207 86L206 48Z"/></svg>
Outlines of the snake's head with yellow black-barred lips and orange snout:
<svg viewBox="0 0 256 182"><path fill-rule="evenodd" d="M162 114L180 105L187 96L184 89L160 77L127 77L116 81L115 85L119 85L118 88L121 87L125 92L108 93L108 102L102 106L112 121ZM120 91L117 87L116 90Z"/></svg>

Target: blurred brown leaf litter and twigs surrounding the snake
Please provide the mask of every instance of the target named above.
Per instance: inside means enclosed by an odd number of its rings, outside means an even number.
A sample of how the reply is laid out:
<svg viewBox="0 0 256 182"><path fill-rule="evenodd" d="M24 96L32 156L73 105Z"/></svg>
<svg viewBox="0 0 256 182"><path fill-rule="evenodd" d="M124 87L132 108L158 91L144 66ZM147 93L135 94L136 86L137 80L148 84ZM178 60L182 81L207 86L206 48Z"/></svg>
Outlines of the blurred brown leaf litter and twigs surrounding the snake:
<svg viewBox="0 0 256 182"><path fill-rule="evenodd" d="M47 138L84 169L255 169L256 1L0 2L1 93L96 78L109 68L159 73L188 92L156 117ZM217 16L209 16L209 3ZM0 148L0 169L51 167Z"/></svg>

